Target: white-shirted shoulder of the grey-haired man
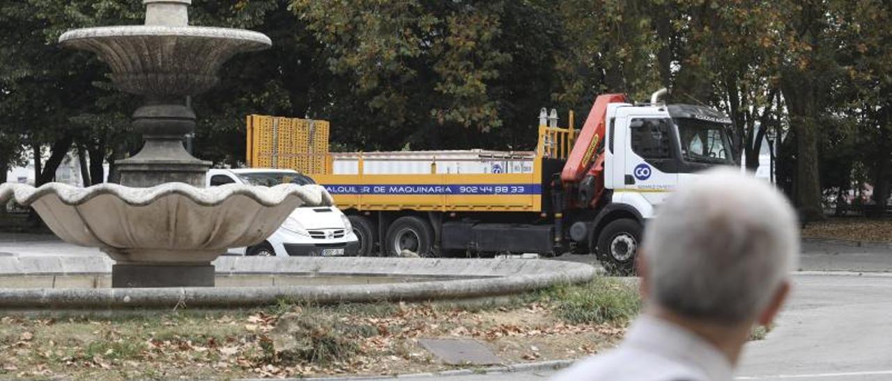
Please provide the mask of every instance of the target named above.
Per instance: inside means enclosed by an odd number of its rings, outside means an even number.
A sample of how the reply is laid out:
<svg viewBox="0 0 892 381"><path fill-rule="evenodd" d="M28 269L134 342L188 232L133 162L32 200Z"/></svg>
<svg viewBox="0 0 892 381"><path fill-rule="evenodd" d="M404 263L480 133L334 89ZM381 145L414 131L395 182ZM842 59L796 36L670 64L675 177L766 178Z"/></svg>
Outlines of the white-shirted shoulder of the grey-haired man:
<svg viewBox="0 0 892 381"><path fill-rule="evenodd" d="M706 381L680 363L650 353L618 349L576 362L551 381Z"/></svg>

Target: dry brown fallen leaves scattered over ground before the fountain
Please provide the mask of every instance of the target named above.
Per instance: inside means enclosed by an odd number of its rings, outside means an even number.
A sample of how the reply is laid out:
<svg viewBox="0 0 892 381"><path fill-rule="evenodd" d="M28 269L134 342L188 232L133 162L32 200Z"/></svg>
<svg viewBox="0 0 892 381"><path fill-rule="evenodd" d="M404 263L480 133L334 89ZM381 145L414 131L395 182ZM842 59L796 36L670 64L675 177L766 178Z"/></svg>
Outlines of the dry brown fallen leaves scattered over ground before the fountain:
<svg viewBox="0 0 892 381"><path fill-rule="evenodd" d="M542 361L594 353L624 328L568 324L551 316L547 303L467 312L430 304L398 304L382 313L345 313L307 308L314 319L335 321L359 351L349 360L326 364L277 358L270 335L279 318L268 312L197 320L162 316L153 324L105 320L29 320L0 317L15 329L0 331L0 376L73 377L305 377L338 374L393 374L446 369L417 344L419 338L472 338L488 343L507 361ZM77 335L63 336L78 328ZM51 333L54 332L54 333ZM85 338L86 337L86 338ZM545 340L545 345L536 340ZM583 340L583 341L584 341ZM506 349L508 348L508 349ZM510 349L516 348L516 349ZM99 377L103 379L105 377Z"/></svg>

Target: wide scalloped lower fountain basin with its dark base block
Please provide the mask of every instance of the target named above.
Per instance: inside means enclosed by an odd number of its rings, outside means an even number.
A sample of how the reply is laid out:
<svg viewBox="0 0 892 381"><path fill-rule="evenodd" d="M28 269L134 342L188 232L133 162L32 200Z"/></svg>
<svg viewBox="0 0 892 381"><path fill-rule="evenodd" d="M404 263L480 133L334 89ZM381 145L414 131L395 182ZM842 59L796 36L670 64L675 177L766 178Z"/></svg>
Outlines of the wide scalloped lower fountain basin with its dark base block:
<svg viewBox="0 0 892 381"><path fill-rule="evenodd" d="M62 240L99 247L114 259L116 288L214 286L211 261L228 247L266 239L295 207L333 205L322 187L295 184L211 189L182 183L153 188L0 184L0 203L7 199L34 207Z"/></svg>

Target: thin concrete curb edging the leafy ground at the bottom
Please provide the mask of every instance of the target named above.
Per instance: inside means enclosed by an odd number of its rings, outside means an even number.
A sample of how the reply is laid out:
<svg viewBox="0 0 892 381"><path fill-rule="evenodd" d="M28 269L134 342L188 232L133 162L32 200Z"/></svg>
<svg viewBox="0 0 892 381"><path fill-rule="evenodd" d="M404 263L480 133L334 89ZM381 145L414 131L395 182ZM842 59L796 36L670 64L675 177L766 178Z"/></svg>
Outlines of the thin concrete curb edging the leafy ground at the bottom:
<svg viewBox="0 0 892 381"><path fill-rule="evenodd" d="M477 369L454 369L443 370L440 372L429 373L411 373L394 376L353 376L353 377L306 377L306 378L281 378L293 381L354 381L354 380L388 380L401 378L422 378L422 377L453 377L453 376L472 376L492 373L516 373L516 372L534 372L539 370L558 370L565 369L576 360L550 360L539 362L524 362L520 364L508 364L488 368ZM241 378L242 381L262 381L265 378Z"/></svg>

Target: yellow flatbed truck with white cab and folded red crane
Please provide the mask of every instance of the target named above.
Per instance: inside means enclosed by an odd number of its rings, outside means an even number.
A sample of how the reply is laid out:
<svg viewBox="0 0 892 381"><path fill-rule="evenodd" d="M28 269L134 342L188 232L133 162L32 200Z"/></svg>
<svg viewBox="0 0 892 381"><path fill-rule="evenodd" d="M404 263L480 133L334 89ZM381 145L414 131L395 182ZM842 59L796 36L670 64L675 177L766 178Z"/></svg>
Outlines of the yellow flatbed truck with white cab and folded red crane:
<svg viewBox="0 0 892 381"><path fill-rule="evenodd" d="M426 158L429 171L370 174L375 155L357 152L351 171L312 175L349 216L359 255L570 251L631 273L645 223L670 192L708 167L737 165L730 118L663 96L599 95L578 131L572 114L567 128L540 118L532 155L498 158L532 171L455 173Z"/></svg>

